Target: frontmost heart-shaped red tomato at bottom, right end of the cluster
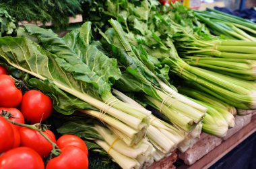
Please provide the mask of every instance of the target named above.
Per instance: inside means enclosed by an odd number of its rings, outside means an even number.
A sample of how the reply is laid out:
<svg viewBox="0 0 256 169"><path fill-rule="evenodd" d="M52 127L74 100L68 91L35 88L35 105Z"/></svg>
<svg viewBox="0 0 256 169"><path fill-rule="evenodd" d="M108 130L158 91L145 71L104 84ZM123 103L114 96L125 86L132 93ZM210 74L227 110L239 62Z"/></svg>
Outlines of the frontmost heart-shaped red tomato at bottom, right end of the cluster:
<svg viewBox="0 0 256 169"><path fill-rule="evenodd" d="M61 155L53 158L46 165L46 169L87 169L88 158L82 149L67 145L61 149Z"/></svg>

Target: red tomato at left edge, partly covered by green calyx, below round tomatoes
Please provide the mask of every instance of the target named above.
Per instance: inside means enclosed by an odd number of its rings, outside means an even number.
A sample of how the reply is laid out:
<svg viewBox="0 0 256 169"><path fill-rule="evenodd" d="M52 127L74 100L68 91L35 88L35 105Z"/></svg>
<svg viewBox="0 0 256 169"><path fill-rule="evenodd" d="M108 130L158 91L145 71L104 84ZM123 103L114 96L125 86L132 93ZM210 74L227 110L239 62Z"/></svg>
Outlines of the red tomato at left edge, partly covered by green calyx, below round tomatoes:
<svg viewBox="0 0 256 169"><path fill-rule="evenodd" d="M17 108L0 108L0 111L2 112L2 110L5 110L7 112L11 113L11 118L9 118L9 120L17 122L17 123L25 123L24 120L24 116L22 114L22 112L20 112L20 110L18 110ZM20 129L20 126L18 125L14 125L17 129Z"/></svg>

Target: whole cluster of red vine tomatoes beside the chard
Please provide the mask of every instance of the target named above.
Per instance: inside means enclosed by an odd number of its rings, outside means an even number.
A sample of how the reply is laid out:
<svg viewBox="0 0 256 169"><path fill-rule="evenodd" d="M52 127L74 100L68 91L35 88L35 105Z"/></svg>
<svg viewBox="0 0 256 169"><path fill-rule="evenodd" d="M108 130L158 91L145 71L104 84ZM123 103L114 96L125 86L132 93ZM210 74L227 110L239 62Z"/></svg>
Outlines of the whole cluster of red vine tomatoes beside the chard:
<svg viewBox="0 0 256 169"><path fill-rule="evenodd" d="M0 91L1 169L88 168L88 149L82 139L63 135L56 141L52 131L33 125L51 116L53 102L49 96L37 90L30 90L22 96L22 91L1 65ZM53 146L59 147L61 153L49 160ZM49 162L44 167L46 158Z"/></svg>

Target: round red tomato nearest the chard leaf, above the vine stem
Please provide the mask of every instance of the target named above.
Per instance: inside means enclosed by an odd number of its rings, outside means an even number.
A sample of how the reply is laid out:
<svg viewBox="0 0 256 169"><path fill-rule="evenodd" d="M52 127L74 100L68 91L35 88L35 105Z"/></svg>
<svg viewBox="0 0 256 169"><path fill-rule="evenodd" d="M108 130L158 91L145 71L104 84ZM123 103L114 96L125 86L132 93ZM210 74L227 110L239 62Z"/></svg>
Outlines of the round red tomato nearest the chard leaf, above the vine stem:
<svg viewBox="0 0 256 169"><path fill-rule="evenodd" d="M40 123L53 112L53 102L42 92L30 90L24 94L20 110L29 123Z"/></svg>

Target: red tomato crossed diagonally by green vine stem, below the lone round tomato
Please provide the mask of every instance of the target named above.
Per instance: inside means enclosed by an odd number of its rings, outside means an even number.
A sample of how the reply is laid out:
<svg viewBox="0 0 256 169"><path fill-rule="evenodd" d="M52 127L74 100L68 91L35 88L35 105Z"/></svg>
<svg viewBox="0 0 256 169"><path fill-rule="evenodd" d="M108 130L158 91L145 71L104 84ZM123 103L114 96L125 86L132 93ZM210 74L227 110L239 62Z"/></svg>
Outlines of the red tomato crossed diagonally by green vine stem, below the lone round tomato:
<svg viewBox="0 0 256 169"><path fill-rule="evenodd" d="M44 135L56 143L55 135L50 130L43 131ZM20 145L34 149L42 158L46 158L53 149L53 145L47 141L38 131L22 127L20 129Z"/></svg>

